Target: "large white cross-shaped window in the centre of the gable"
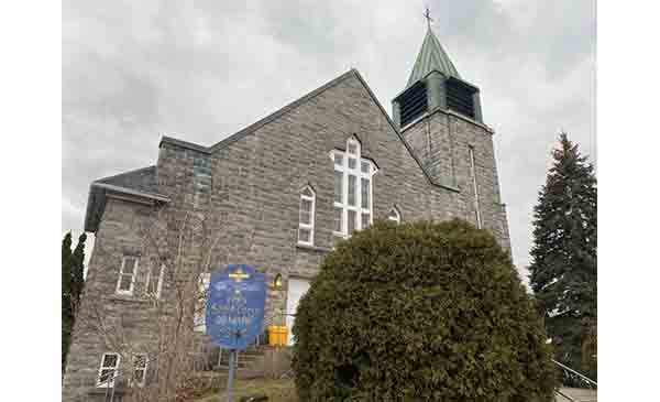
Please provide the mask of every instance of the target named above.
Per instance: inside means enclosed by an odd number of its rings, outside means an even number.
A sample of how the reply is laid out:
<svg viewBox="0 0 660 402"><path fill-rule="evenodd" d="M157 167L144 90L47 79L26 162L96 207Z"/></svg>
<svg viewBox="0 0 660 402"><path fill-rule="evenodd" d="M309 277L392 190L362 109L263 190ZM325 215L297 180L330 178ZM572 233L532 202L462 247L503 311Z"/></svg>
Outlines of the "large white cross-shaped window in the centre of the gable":
<svg viewBox="0 0 660 402"><path fill-rule="evenodd" d="M334 165L333 235L349 237L373 220L373 181L375 164L362 157L360 142L350 138L346 150L333 150Z"/></svg>

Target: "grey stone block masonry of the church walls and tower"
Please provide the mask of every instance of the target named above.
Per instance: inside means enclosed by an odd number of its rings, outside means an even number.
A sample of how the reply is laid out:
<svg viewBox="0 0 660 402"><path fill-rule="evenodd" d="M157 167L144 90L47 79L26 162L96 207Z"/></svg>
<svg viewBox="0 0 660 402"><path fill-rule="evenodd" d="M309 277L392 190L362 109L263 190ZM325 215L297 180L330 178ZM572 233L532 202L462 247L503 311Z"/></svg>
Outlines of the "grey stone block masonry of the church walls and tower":
<svg viewBox="0 0 660 402"><path fill-rule="evenodd" d="M91 301L100 300L103 314L127 327L124 336L150 349L151 305L139 293L118 295L118 275L122 256L144 253L145 219L174 208L212 218L213 231L221 235L212 267L251 263L268 282L283 276L283 290L268 290L266 325L284 325L288 279L314 279L333 247L330 152L344 150L351 137L378 169L372 178L374 218L385 218L396 207L404 221L460 217L476 222L472 146L483 226L509 249L492 135L485 126L442 109L399 132L360 74L351 70L213 146L163 138L150 183L152 193L169 202L150 204L116 193L95 197L94 210L102 214L79 314L91 314ZM314 246L297 243L306 185L316 193ZM146 285L145 275L139 269L136 290ZM167 292L165 283L165 298ZM64 401L97 398L95 382L107 351L111 346L100 334L76 325Z"/></svg>

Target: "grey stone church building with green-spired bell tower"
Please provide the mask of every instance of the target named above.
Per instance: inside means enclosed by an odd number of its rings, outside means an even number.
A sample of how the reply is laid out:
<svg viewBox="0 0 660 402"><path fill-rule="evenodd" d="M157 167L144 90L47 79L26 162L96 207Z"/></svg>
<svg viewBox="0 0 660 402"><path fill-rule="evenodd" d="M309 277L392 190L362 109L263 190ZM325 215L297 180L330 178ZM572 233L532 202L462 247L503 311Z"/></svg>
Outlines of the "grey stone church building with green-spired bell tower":
<svg viewBox="0 0 660 402"><path fill-rule="evenodd" d="M124 336L147 341L141 322L150 305L140 294L166 297L168 285L166 264L144 256L143 224L166 208L221 222L211 265L250 263L267 281L282 280L266 301L266 323L276 325L293 324L283 317L336 241L374 219L459 217L510 251L480 90L430 29L392 109L391 118L352 69L213 145L163 137L154 165L95 181L85 230L96 245L79 315L102 300L102 314L130 323ZM250 246L237 247L246 233ZM103 337L77 324L64 400L101 398L99 378L122 363Z"/></svg>

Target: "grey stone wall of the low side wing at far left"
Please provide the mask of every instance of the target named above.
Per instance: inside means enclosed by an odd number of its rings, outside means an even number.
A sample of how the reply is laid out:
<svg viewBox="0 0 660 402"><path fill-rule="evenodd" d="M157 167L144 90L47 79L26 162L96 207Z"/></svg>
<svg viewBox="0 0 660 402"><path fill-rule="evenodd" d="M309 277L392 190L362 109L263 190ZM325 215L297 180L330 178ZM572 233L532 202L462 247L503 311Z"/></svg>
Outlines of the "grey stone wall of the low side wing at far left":
<svg viewBox="0 0 660 402"><path fill-rule="evenodd" d="M121 317L123 334L139 349L146 351L151 347L153 308L146 300L138 296L144 290L146 270L138 270L135 296L118 295L116 289L123 256L139 256L141 262L147 260L142 240L145 222L152 213L153 207L150 206L117 198L108 199L103 219L96 233L81 306L73 332L63 381L64 401L91 401L95 398L102 400L102 394L90 395L89 392L96 390L103 352L114 352L118 349L98 332L96 316L101 315L118 326Z"/></svg>

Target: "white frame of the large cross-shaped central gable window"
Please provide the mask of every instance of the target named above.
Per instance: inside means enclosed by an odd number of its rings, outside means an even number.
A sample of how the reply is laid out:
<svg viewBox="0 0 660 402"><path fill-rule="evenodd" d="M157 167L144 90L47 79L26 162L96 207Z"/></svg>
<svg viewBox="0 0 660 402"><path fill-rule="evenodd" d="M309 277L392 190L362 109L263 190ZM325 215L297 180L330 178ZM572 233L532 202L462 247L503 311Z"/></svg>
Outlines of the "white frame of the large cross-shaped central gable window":
<svg viewBox="0 0 660 402"><path fill-rule="evenodd" d="M355 153L350 153L350 149L355 149ZM334 163L334 156L342 156L342 164L338 165ZM355 167L349 167L349 157L353 157L356 160ZM355 219L355 230L361 230L366 228L369 225L372 225L374 221L374 182L373 176L378 169L374 162L369 159L362 157L362 146L360 141L356 138L351 137L346 140L346 149L345 151L341 150L332 150L330 151L330 160L332 161L333 172L340 172L342 174L342 194L341 194L341 203L334 199L334 189L332 196L332 222L334 225L334 208L341 208L341 231L334 230L332 228L332 235L336 237L348 238L349 233L349 210L352 210L356 215ZM362 172L362 163L369 163L369 172ZM355 176L355 205L349 205L349 175ZM362 207L362 178L369 180L369 205L366 208ZM334 178L333 178L334 180ZM369 222L362 221L362 214L369 214Z"/></svg>

